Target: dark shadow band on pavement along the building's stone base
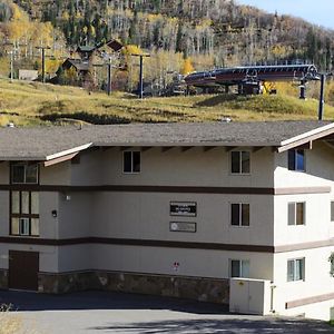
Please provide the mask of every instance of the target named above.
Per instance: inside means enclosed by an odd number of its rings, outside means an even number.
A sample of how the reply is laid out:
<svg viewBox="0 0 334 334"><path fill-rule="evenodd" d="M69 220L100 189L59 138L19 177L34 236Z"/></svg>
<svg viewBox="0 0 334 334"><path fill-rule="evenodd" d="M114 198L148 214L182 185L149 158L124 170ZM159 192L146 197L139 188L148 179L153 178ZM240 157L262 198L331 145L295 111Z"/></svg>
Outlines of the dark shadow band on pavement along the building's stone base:
<svg viewBox="0 0 334 334"><path fill-rule="evenodd" d="M112 292L80 292L65 295L0 291L0 305L16 311L59 310L171 310L194 314L226 314L226 305Z"/></svg>

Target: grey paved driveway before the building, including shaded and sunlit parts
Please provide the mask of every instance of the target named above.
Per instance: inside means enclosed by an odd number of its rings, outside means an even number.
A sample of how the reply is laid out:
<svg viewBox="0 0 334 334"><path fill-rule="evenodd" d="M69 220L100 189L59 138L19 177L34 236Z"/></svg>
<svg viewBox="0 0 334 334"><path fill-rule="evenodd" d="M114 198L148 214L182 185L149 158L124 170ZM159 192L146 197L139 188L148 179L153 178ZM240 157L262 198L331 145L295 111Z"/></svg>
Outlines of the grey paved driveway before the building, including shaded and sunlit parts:
<svg viewBox="0 0 334 334"><path fill-rule="evenodd" d="M120 293L0 291L1 303L13 305L13 316L23 320L29 334L334 334L324 322L232 315L215 304Z"/></svg>

